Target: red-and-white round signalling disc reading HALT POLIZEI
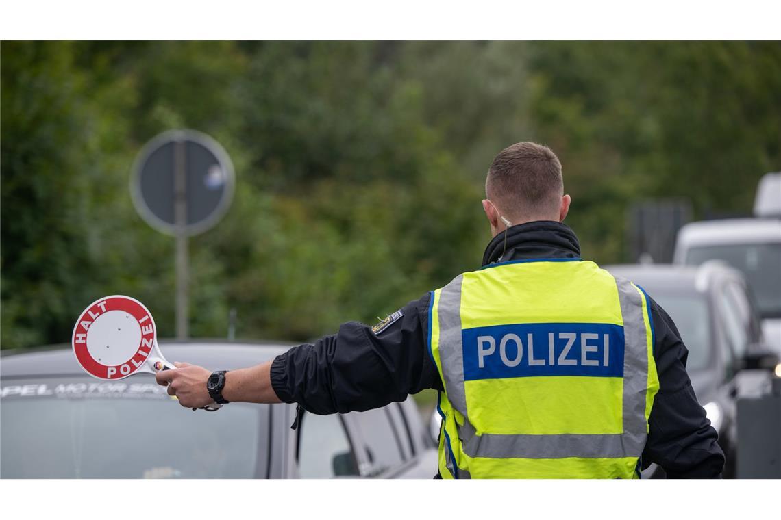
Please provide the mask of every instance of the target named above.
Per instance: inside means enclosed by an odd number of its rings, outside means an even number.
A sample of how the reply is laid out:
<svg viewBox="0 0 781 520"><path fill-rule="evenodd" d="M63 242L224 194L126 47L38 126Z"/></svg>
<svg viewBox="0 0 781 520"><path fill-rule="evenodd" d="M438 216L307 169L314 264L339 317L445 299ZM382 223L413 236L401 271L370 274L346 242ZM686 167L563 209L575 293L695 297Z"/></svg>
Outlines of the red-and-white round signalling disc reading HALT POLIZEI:
<svg viewBox="0 0 781 520"><path fill-rule="evenodd" d="M81 367L98 379L173 368L157 346L152 313L130 296L106 296L87 306L73 327L71 344Z"/></svg>

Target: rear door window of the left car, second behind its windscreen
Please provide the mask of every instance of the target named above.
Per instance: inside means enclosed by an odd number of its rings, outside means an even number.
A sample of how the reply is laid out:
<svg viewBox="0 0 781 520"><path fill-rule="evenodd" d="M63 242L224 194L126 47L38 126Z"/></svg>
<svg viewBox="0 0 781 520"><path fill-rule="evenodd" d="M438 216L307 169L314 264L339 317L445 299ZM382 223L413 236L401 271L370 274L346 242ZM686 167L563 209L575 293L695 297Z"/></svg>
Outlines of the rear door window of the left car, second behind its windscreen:
<svg viewBox="0 0 781 520"><path fill-rule="evenodd" d="M389 407L354 412L355 422L366 443L367 458L372 472L379 473L401 464L401 435L391 423Z"/></svg>

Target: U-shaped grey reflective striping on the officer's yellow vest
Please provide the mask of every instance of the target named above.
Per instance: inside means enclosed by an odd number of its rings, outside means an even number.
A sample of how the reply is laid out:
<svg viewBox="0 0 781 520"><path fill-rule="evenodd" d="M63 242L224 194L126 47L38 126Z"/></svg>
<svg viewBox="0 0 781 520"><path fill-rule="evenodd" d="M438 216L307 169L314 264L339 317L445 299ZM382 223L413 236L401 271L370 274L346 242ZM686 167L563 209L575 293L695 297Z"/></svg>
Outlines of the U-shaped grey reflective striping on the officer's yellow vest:
<svg viewBox="0 0 781 520"><path fill-rule="evenodd" d="M637 288L623 278L615 278L624 322L623 433L478 435L469 423L466 409L461 329L462 281L463 276L459 276L442 288L437 315L445 393L451 405L464 416L464 426L456 423L456 429L466 455L473 458L640 457L647 437L648 353L642 299Z"/></svg>

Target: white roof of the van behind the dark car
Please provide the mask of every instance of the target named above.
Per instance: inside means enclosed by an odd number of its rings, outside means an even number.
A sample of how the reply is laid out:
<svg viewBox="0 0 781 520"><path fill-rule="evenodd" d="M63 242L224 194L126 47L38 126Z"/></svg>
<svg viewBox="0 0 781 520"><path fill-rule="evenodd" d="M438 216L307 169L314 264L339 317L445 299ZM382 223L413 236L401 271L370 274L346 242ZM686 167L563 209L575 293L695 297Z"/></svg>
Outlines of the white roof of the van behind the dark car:
<svg viewBox="0 0 781 520"><path fill-rule="evenodd" d="M781 219L727 218L690 222L680 228L677 248L761 242L781 242Z"/></svg>

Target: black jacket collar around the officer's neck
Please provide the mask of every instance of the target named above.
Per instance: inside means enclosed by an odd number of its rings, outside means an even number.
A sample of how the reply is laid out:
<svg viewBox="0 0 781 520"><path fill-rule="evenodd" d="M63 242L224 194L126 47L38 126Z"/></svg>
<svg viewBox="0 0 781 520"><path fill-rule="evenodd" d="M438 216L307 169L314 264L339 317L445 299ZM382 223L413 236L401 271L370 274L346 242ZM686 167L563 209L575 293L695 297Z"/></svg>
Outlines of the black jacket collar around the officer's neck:
<svg viewBox="0 0 781 520"><path fill-rule="evenodd" d="M483 267L500 261L531 258L580 258L580 242L569 226L555 221L534 221L514 225L494 236L483 253Z"/></svg>

